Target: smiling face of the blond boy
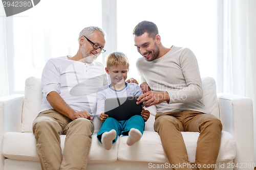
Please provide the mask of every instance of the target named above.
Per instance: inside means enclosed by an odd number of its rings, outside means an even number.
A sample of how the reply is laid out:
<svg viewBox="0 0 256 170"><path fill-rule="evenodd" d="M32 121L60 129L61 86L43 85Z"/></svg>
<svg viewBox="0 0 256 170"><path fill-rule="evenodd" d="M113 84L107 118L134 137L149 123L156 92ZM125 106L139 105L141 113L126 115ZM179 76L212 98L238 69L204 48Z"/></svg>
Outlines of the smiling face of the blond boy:
<svg viewBox="0 0 256 170"><path fill-rule="evenodd" d="M125 87L125 80L127 79L127 72L129 68L125 65L111 66L105 68L106 72L110 75L111 86L123 85Z"/></svg>

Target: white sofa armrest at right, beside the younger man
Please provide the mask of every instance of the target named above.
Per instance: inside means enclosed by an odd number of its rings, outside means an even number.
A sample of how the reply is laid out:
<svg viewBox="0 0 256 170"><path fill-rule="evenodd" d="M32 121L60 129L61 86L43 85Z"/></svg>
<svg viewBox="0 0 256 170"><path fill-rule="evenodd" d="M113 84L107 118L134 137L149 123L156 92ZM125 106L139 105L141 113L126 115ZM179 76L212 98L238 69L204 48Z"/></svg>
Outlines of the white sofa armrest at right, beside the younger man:
<svg viewBox="0 0 256 170"><path fill-rule="evenodd" d="M231 93L219 93L218 103L223 130L231 133L237 146L234 169L253 169L253 112L252 101L244 96ZM247 167L245 167L247 166Z"/></svg>

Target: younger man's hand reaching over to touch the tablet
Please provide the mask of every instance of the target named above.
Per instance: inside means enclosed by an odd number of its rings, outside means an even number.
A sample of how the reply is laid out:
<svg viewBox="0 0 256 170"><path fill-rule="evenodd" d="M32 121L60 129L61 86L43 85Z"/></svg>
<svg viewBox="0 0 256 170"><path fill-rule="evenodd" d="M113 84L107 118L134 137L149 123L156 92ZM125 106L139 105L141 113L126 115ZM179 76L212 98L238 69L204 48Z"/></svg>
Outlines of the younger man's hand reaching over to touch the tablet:
<svg viewBox="0 0 256 170"><path fill-rule="evenodd" d="M143 107L144 106L150 107L152 105L157 105L164 101L169 103L169 94L167 91L163 91L163 92L148 91L148 92L145 92L144 94L142 94L141 96L139 96L137 101L138 101L138 102L136 102L137 104L144 102L142 104Z"/></svg>

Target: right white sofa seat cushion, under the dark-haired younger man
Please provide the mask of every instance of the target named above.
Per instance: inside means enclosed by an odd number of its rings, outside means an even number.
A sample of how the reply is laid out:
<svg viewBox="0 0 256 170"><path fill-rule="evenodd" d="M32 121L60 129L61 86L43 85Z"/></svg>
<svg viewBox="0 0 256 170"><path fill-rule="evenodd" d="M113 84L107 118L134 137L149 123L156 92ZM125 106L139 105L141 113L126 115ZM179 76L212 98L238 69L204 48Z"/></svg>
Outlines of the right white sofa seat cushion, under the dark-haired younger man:
<svg viewBox="0 0 256 170"><path fill-rule="evenodd" d="M188 160L195 162L198 132L181 132L188 154ZM168 162L161 139L157 132L144 131L141 139L131 147L126 144L127 136L121 136L118 145L118 160ZM172 146L170 146L172 147ZM233 160L236 157L236 145L230 133L222 131L220 152L217 162Z"/></svg>

